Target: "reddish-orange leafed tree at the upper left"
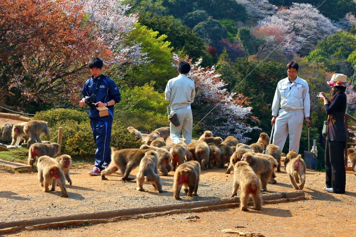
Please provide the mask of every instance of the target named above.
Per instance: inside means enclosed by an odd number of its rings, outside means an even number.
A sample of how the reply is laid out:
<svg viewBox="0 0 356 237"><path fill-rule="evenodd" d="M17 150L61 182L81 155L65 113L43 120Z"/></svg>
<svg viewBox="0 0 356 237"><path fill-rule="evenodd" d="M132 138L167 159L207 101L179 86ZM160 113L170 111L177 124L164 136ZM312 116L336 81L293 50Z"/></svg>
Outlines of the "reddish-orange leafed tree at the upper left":
<svg viewBox="0 0 356 237"><path fill-rule="evenodd" d="M88 59L111 53L91 40L95 28L80 10L68 0L0 1L1 99L10 94L8 103L22 106L63 94L74 99Z"/></svg>

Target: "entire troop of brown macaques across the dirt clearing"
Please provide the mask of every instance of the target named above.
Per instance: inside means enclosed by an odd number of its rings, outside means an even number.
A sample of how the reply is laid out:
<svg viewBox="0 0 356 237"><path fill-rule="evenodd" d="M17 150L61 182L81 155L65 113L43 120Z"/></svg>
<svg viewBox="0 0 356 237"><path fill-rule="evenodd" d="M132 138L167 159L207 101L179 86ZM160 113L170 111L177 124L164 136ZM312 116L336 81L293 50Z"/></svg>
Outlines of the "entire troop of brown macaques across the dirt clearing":
<svg viewBox="0 0 356 237"><path fill-rule="evenodd" d="M136 139L142 139L142 134L133 127L127 128L135 133ZM62 197L68 197L65 180L72 185L69 177L69 166L72 159L69 155L56 157L60 152L59 144L42 144L41 133L48 134L47 122L43 120L31 120L21 124L14 124L12 130L12 144L15 144L20 136L30 144L28 152L28 164L37 161L38 179L44 192L48 192L48 186L52 183L51 190L58 184L62 190ZM219 167L224 168L228 164L225 173L234 171L234 182L232 185L232 196L237 195L240 187L240 208L247 210L249 195L252 195L255 210L262 206L262 191L267 190L267 183L276 183L276 173L281 171L281 149L269 144L269 136L261 133L256 143L246 145L239 143L234 136L228 136L225 140L214 137L211 131L205 131L198 141L188 145L180 142L178 144L166 145L169 137L169 127L158 128L145 138L145 145L139 149L116 150L111 147L111 163L101 171L101 179L108 180L105 175L110 175L120 170L123 181L132 181L129 174L132 169L139 167L136 174L137 190L144 190L143 184L150 182L157 192L167 192L162 189L162 176L167 176L174 171L173 197L181 199L179 194L183 187L187 196L197 196L199 174L202 170ZM36 143L33 143L37 141ZM354 159L350 159L352 167L355 167L356 152L349 149ZM56 158L51 158L56 157ZM302 190L305 184L306 166L301 155L296 151L287 154L284 160L285 170L293 187ZM299 185L298 185L299 184Z"/></svg>

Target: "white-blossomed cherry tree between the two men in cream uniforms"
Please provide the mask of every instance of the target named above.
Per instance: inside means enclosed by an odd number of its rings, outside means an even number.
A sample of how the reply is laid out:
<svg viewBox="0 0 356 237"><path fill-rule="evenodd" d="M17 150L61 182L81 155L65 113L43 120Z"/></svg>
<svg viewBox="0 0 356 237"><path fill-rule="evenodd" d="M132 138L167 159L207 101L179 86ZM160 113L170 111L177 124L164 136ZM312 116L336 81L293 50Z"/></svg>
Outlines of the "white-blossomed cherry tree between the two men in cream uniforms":
<svg viewBox="0 0 356 237"><path fill-rule="evenodd" d="M177 64L179 60L174 54L174 63ZM194 123L201 131L210 130L222 138L232 135L241 142L247 142L251 138L246 137L246 133L259 129L246 122L251 118L252 109L246 107L248 98L242 94L228 93L224 88L225 82L220 79L221 75L215 72L215 66L202 68L202 60L200 58L194 64L188 60L191 66L188 77L194 81L196 91L192 104Z"/></svg>

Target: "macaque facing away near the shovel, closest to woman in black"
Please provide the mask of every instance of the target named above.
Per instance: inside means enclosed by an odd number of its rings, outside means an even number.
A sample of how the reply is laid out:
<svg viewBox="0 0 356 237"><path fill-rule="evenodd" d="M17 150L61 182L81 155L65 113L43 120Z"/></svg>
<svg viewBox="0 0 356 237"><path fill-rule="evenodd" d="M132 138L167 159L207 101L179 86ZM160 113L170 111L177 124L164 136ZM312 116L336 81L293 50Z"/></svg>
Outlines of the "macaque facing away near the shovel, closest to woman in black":
<svg viewBox="0 0 356 237"><path fill-rule="evenodd" d="M298 155L298 157L290 159L287 163L286 172L289 175L290 182L292 182L292 185L295 189L303 190L305 184L306 170L307 167L305 166L305 163L302 159L302 155L300 154ZM299 183L299 178L300 184L298 186L297 183Z"/></svg>

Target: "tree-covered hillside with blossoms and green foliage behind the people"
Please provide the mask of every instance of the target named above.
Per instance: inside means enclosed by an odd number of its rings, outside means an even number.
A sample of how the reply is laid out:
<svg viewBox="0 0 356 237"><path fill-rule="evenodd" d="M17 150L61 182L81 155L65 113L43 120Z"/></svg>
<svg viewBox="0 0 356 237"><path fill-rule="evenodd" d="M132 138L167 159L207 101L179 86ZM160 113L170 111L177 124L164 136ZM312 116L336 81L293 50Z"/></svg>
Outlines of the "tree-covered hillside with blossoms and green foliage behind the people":
<svg viewBox="0 0 356 237"><path fill-rule="evenodd" d="M120 87L114 126L154 130L168 125L164 88L184 59L196 87L193 137L211 130L251 144L271 133L274 91L294 60L311 101L300 152L311 149L309 133L323 161L326 114L316 95L329 94L335 72L348 76L347 113L356 117L355 16L355 0L3 0L0 99L36 115L86 113L80 92L99 56ZM355 133L349 121L349 147Z"/></svg>

